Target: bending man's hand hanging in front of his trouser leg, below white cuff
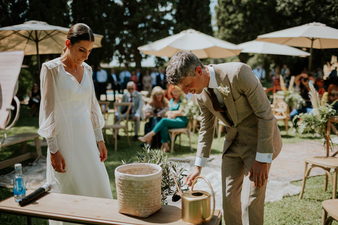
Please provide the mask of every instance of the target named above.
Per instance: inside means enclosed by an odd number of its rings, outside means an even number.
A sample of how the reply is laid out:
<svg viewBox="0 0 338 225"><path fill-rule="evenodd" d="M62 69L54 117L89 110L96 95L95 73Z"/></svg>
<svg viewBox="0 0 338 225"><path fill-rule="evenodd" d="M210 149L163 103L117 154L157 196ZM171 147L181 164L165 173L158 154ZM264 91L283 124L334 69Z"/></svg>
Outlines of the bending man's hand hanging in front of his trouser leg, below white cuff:
<svg viewBox="0 0 338 225"><path fill-rule="evenodd" d="M268 179L268 173L268 163L263 164L256 160L252 163L249 170L249 177L254 175L255 188L261 189L262 186L265 185L266 180Z"/></svg>

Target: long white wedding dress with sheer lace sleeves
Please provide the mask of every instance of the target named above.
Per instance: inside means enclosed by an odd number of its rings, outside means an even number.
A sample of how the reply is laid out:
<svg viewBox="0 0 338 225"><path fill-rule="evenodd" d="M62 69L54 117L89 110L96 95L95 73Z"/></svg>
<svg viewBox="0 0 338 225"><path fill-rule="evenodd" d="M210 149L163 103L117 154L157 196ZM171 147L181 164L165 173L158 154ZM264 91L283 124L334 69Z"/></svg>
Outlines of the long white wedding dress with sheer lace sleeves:
<svg viewBox="0 0 338 225"><path fill-rule="evenodd" d="M103 140L104 119L95 98L91 67L82 65L79 83L65 71L59 58L43 64L38 133L48 143L47 182L52 184L51 192L112 199L96 144ZM65 159L66 173L58 173L51 166L50 152L57 150ZM49 224L69 223L50 220Z"/></svg>

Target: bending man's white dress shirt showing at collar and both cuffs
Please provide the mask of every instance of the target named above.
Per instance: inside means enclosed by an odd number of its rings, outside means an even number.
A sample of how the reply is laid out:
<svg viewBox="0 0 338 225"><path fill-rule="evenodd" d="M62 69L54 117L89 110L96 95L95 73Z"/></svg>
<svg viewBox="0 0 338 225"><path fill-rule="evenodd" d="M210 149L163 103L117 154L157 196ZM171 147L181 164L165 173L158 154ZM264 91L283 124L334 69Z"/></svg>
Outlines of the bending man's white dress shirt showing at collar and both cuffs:
<svg viewBox="0 0 338 225"><path fill-rule="evenodd" d="M218 102L219 102L220 106L223 107L224 101L223 101L221 93L217 89L218 85L217 85L217 81L216 81L214 68L212 66L207 66L207 67L209 69L209 74L210 74L210 80L209 80L209 86L208 87L214 89L214 92L217 96ZM208 87L205 87L204 90L206 90L209 93ZM195 166L205 167L206 163L207 163L207 159L208 158L197 156L196 161L195 161ZM258 162L271 163L272 162L272 153L256 152L256 160Z"/></svg>

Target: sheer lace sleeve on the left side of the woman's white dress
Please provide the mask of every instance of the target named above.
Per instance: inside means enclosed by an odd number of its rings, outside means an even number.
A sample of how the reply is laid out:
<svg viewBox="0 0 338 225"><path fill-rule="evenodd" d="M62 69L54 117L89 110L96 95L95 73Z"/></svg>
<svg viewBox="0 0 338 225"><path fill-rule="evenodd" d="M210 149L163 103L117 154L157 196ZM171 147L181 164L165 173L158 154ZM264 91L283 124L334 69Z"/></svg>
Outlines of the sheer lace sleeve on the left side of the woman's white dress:
<svg viewBox="0 0 338 225"><path fill-rule="evenodd" d="M56 116L56 83L52 69L43 64L40 74L41 105L39 115L38 134L47 139L48 149L51 153L58 150L56 135L60 128Z"/></svg>

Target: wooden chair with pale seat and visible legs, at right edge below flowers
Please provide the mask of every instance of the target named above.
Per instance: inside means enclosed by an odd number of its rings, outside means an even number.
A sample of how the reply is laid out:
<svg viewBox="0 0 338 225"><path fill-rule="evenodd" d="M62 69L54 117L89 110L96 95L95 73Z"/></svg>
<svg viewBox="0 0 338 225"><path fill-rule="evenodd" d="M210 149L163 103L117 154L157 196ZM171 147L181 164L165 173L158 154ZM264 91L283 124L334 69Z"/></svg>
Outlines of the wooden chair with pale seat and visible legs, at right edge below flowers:
<svg viewBox="0 0 338 225"><path fill-rule="evenodd" d="M332 192L332 199L336 198L337 195L337 172L338 172L338 158L335 157L338 151L336 151L332 156L329 156L329 150L330 150L330 131L331 128L335 132L335 134L338 136L338 131L333 125L333 123L338 122L338 116L330 116L328 120L327 125L327 131L326 131L326 156L315 156L311 158L305 159L305 170L304 170L304 178L303 178L303 186L301 188L299 198L301 199L303 197L304 188L305 188L305 182L306 178L309 176L310 171L314 167L322 168L325 171L325 183L324 183L324 191L328 188L328 178L330 178L331 185L333 186L333 192ZM308 164L311 163L312 165L308 168ZM334 169L334 175L331 176L330 170Z"/></svg>

